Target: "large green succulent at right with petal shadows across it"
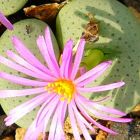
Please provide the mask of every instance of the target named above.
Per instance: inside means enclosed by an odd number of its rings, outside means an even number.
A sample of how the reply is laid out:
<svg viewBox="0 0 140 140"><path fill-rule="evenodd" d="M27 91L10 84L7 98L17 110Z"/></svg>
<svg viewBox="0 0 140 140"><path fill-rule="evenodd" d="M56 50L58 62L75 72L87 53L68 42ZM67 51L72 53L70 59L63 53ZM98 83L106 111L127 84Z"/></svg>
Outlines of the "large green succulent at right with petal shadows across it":
<svg viewBox="0 0 140 140"><path fill-rule="evenodd" d="M86 57L97 49L104 53L102 60L113 60L112 67L90 85L118 80L126 85L101 94L87 93L86 97L98 100L111 96L105 105L130 112L140 102L140 24L129 9L116 0L71 0L57 16L57 39L61 48L69 38L77 42L81 37L89 23L88 13L99 22L99 40L87 43ZM98 58L102 58L101 54ZM88 68L96 61L95 57L91 60L91 56L90 60L83 59Z"/></svg>

